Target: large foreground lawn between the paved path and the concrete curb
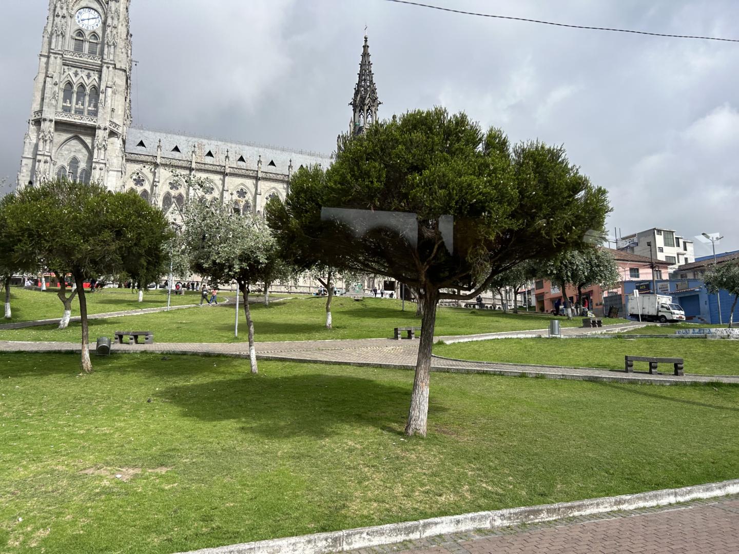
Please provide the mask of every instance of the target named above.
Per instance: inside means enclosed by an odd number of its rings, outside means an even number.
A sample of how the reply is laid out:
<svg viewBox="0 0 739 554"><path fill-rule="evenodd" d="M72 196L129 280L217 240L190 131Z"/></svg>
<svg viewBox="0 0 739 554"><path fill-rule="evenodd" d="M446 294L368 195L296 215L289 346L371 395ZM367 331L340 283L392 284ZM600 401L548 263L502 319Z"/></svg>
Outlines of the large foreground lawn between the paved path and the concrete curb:
<svg viewBox="0 0 739 554"><path fill-rule="evenodd" d="M259 367L0 355L0 551L171 553L739 474L735 386L434 374L429 437L405 440L412 372Z"/></svg>

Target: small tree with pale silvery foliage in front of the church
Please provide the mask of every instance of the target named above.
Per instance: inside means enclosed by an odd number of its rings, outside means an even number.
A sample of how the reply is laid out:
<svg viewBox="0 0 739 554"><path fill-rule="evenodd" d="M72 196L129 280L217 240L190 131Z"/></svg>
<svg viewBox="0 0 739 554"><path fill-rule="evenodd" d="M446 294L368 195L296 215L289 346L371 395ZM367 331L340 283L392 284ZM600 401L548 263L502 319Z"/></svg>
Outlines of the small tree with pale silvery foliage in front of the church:
<svg viewBox="0 0 739 554"><path fill-rule="evenodd" d="M185 207L182 243L191 270L211 282L236 281L244 298L249 332L251 372L257 372L250 287L265 281L265 265L276 244L269 229L251 214L236 215L227 206L209 206L192 199Z"/></svg>

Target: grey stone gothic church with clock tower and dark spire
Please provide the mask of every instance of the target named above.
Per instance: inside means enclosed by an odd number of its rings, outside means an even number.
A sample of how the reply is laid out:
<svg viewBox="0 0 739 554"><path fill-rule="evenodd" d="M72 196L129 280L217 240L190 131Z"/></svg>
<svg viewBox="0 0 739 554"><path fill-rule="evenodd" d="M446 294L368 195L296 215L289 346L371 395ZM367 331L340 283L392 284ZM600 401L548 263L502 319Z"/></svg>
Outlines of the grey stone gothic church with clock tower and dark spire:
<svg viewBox="0 0 739 554"><path fill-rule="evenodd" d="M190 191L183 176L207 177L210 202L262 213L285 198L301 165L328 155L147 131L132 126L131 0L50 0L24 137L18 186L68 177L137 191L175 218ZM380 102L364 37L350 133L377 120Z"/></svg>

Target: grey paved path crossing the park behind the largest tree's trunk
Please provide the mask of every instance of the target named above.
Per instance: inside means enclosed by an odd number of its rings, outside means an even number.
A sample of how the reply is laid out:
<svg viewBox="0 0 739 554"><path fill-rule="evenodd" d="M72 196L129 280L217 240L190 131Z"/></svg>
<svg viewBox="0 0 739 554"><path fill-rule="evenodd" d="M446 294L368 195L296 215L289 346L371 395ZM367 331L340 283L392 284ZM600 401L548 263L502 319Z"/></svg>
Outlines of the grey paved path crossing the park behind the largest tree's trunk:
<svg viewBox="0 0 739 554"><path fill-rule="evenodd" d="M582 331L582 329L580 329ZM92 341L95 339L92 338ZM94 343L91 345L94 348ZM246 343L154 343L114 344L114 352L156 352L158 354L231 355L248 357ZM0 352L79 352L79 343L0 341ZM292 360L315 363L346 363L355 366L373 366L389 369L415 368L418 341L394 341L387 338L367 338L346 341L286 341L256 343L256 352L262 360ZM616 381L620 383L738 383L739 376L712 375L649 375L625 373L608 369L559 366L534 366L515 363L475 362L432 358L432 370L454 373L484 373L552 379Z"/></svg>

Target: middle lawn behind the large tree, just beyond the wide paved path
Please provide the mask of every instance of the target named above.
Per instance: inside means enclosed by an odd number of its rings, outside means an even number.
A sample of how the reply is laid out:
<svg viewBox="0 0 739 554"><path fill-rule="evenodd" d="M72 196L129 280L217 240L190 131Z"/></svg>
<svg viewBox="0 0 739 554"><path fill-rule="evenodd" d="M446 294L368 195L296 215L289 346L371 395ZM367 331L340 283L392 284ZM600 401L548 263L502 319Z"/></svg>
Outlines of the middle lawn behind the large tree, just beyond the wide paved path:
<svg viewBox="0 0 739 554"><path fill-rule="evenodd" d="M97 294L97 293L96 293ZM228 296L228 294L226 294ZM185 298L188 298L185 296ZM233 298L233 295L231 295ZM257 296L256 298L260 298ZM415 304L401 301L366 298L361 302L352 298L334 298L332 304L333 329L325 328L326 299L317 297L294 298L275 302L269 307L253 305L252 317L257 341L312 341L331 338L392 337L395 326L419 325ZM59 303L61 306L61 303ZM504 314L495 310L466 310L440 308L437 312L436 335L467 335L484 332L545 329L551 318L544 315ZM241 336L234 338L234 303L225 306L203 306L192 310L157 312L127 316L125 319L90 321L90 336L112 337L121 325L126 328L151 329L159 342L237 342L245 341L245 317L239 311ZM622 322L605 320L604 323ZM562 319L564 326L577 326L579 320ZM55 326L0 331L0 341L78 341L80 325L70 324L59 331Z"/></svg>

